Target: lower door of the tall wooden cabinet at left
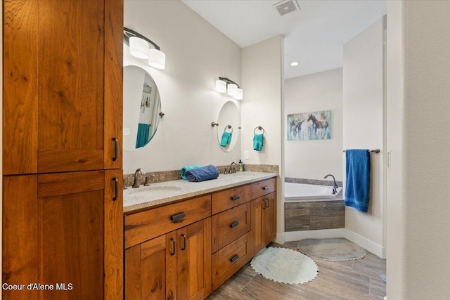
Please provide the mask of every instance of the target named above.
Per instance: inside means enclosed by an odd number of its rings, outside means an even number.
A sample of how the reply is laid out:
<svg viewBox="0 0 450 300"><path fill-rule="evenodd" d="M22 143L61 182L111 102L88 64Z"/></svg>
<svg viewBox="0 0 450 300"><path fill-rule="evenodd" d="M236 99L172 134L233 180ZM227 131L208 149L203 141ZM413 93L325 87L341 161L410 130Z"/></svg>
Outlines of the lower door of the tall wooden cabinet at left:
<svg viewBox="0 0 450 300"><path fill-rule="evenodd" d="M30 297L4 291L4 299L122 299L123 204L115 195L120 181L113 181L121 176L113 170L4 178L4 282L53 286Z"/></svg>

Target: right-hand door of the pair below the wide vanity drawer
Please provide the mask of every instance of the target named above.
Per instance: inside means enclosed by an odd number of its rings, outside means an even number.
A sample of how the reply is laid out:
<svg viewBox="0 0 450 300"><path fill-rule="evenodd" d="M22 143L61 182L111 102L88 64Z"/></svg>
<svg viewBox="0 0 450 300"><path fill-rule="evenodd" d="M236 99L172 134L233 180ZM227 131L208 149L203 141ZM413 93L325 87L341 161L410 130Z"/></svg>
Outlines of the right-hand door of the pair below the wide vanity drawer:
<svg viewBox="0 0 450 300"><path fill-rule="evenodd" d="M176 299L205 299L211 292L211 219L177 230Z"/></svg>

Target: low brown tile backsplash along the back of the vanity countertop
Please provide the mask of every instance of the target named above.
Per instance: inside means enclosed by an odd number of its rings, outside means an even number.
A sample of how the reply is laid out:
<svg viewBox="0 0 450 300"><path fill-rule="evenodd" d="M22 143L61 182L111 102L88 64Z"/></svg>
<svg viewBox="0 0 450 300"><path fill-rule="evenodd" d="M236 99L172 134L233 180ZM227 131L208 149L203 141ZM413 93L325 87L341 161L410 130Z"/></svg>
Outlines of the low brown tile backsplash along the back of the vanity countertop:
<svg viewBox="0 0 450 300"><path fill-rule="evenodd" d="M219 169L220 174L224 174L225 168L228 169L229 165L216 167L217 169ZM236 169L236 171L238 171L238 169ZM245 164L245 171L278 174L278 166L272 164ZM143 183L146 180L146 176L148 175L150 175L150 183L177 181L181 179L180 173L181 173L180 170L148 172L146 173L146 175L139 176L139 184L143 185ZM133 181L134 181L134 174L124 174L124 186L126 185L127 187L131 187L131 185L133 185Z"/></svg>

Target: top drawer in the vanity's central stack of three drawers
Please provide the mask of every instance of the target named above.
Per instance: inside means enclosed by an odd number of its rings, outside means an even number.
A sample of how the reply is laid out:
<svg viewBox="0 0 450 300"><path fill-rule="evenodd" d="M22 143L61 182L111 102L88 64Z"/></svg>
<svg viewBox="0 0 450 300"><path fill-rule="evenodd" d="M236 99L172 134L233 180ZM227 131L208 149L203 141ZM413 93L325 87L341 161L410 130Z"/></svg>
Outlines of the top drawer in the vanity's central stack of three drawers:
<svg viewBox="0 0 450 300"><path fill-rule="evenodd" d="M250 201L250 185L243 185L238 188L230 188L212 194L212 214L218 214L226 209L237 207L240 204Z"/></svg>

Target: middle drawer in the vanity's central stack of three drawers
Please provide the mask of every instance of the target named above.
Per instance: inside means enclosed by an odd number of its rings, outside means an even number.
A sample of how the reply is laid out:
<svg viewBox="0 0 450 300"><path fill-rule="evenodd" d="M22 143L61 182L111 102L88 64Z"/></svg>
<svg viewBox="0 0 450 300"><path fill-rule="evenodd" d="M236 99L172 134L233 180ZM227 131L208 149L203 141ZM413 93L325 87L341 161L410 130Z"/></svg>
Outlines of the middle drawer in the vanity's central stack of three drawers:
<svg viewBox="0 0 450 300"><path fill-rule="evenodd" d="M251 202L212 216L212 252L226 246L251 228Z"/></svg>

